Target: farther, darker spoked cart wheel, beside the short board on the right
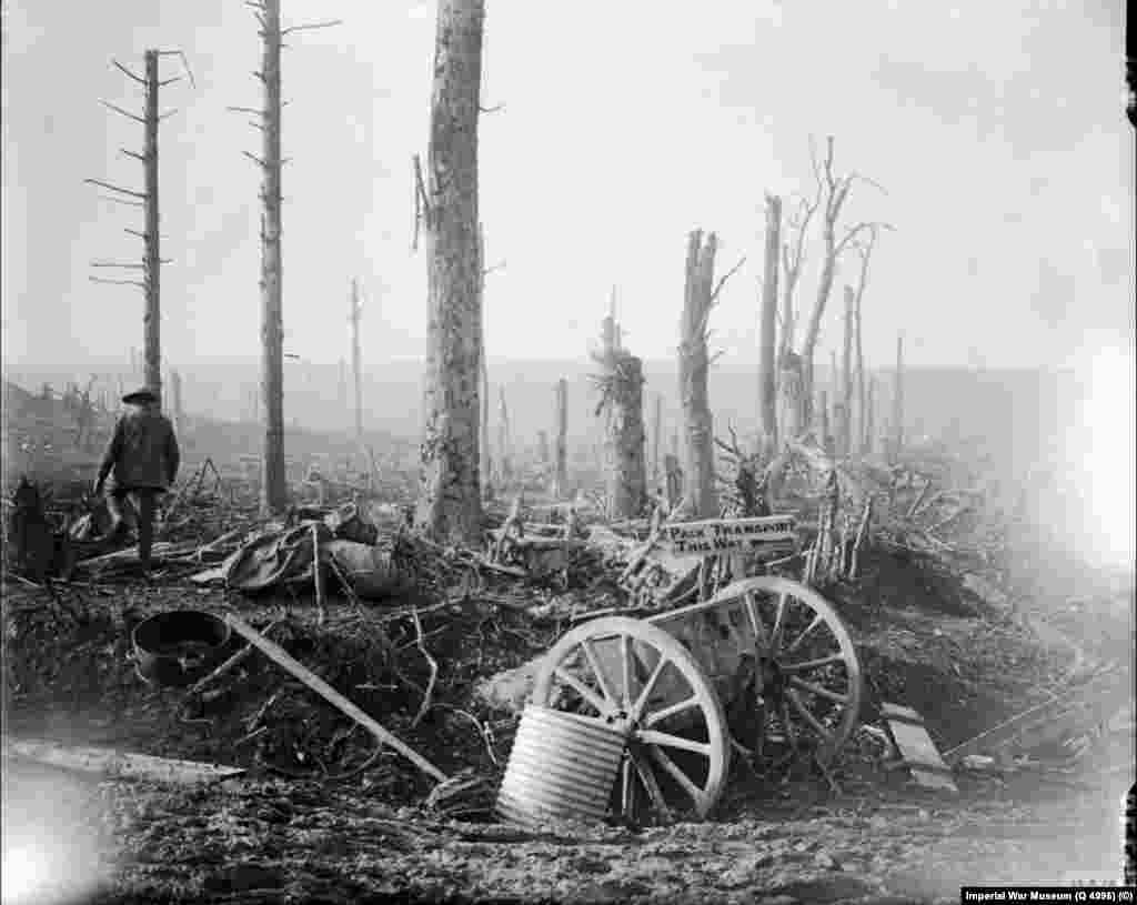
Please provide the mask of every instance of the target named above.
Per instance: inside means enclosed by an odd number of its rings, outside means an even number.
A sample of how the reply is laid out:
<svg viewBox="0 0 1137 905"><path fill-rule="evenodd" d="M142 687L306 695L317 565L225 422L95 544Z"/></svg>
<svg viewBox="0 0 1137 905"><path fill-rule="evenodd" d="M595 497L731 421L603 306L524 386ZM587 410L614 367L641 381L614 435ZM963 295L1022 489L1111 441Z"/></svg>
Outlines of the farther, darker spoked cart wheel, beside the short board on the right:
<svg viewBox="0 0 1137 905"><path fill-rule="evenodd" d="M861 663L848 630L820 593L789 579L737 581L708 606L721 604L729 616L735 601L748 631L732 634L739 651L757 663L756 738L739 741L757 754L779 744L810 749L827 764L861 711Z"/></svg>

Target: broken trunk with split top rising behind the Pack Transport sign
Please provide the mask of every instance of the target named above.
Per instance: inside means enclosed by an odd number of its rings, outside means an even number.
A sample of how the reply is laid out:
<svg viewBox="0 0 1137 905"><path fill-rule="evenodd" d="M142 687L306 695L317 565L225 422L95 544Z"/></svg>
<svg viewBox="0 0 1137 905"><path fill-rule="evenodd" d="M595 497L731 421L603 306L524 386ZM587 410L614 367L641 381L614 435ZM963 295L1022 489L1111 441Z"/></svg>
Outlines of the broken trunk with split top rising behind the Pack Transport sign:
<svg viewBox="0 0 1137 905"><path fill-rule="evenodd" d="M714 233L703 242L703 231L691 232L687 243L683 317L679 342L679 398L687 434L683 465L684 514L714 518L719 514L714 487L714 424L707 399L707 321L714 291Z"/></svg>

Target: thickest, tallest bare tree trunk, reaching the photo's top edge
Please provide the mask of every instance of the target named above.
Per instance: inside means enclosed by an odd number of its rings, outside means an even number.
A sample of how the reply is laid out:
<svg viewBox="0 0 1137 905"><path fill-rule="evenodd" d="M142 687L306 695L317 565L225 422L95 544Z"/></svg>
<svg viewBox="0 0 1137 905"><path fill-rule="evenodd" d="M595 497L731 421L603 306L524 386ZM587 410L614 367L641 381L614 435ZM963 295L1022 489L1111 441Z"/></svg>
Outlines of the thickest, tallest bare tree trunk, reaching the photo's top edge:
<svg viewBox="0 0 1137 905"><path fill-rule="evenodd" d="M482 266L478 113L483 0L439 0L423 225L429 350L416 522L434 538L481 538L479 383Z"/></svg>

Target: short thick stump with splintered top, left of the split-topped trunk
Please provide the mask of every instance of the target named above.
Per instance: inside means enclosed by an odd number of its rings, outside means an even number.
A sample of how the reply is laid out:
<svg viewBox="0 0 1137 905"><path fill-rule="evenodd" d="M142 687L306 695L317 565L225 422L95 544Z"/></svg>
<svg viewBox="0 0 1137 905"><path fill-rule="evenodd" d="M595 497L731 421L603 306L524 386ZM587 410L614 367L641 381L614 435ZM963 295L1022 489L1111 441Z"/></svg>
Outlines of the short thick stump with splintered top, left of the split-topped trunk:
<svg viewBox="0 0 1137 905"><path fill-rule="evenodd" d="M615 348L605 360L607 384L606 474L608 518L638 518L647 508L644 465L644 363Z"/></svg>

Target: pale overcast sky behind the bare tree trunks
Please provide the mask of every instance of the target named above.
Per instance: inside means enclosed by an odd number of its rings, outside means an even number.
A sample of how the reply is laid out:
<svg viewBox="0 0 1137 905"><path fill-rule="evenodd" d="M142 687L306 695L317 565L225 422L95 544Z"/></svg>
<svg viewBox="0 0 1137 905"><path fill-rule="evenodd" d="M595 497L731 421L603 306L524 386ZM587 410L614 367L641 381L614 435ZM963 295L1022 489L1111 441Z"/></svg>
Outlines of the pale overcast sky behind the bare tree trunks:
<svg viewBox="0 0 1137 905"><path fill-rule="evenodd" d="M259 105L239 0L8 0L3 63L3 343L9 366L126 357L141 293L89 282L131 259L134 208L84 177L141 185L147 48L181 48L197 88L163 89L167 360L259 343ZM425 152L434 5L284 0L285 349L348 351L348 288L368 289L370 358L420 355L425 261L410 252L410 158ZM489 0L480 125L491 356L578 358L611 287L628 344L673 355L691 229L747 264L713 315L715 348L753 359L765 191L811 189L808 141L836 136L849 222L883 219L865 354L896 331L914 364L1070 364L1134 343L1134 142L1120 0ZM180 72L163 59L164 76ZM811 246L816 261L816 243ZM838 274L855 277L854 260ZM800 304L812 305L811 269ZM837 305L830 306L836 316ZM827 317L821 360L836 338Z"/></svg>

